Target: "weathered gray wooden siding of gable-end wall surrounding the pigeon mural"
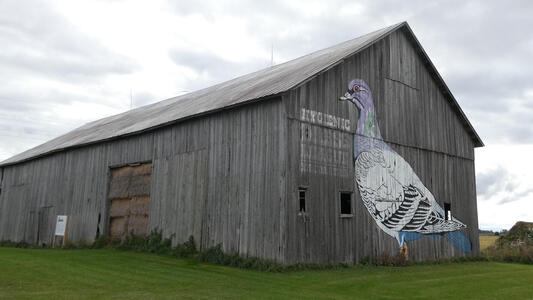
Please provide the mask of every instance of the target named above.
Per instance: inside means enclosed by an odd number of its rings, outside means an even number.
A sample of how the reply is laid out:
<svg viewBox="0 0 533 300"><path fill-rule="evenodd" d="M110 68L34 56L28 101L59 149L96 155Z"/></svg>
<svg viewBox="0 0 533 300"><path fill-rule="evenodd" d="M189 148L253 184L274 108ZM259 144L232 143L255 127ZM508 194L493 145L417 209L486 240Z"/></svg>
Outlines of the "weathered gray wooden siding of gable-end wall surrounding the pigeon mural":
<svg viewBox="0 0 533 300"><path fill-rule="evenodd" d="M468 226L474 253L479 251L474 144L423 60L398 30L284 95L289 118L286 262L357 261L399 251L397 241L370 217L355 185L357 111L337 100L353 78L370 86L386 142L413 167L441 206L452 204L454 216ZM302 108L350 119L351 128L301 121ZM349 157L343 166L349 168L348 177L331 163L336 159L332 155ZM314 169L305 166L309 161ZM298 215L299 187L308 189L307 218ZM340 217L339 193L346 190L354 192L353 218ZM408 247L414 259L463 255L440 237L423 237Z"/></svg>

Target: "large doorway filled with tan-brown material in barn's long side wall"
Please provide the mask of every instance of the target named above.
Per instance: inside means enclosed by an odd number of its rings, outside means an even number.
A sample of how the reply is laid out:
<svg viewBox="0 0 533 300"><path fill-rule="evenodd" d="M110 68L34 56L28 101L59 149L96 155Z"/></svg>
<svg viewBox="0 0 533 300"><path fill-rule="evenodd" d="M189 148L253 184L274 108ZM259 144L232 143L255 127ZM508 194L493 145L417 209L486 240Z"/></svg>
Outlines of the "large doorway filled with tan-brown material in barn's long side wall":
<svg viewBox="0 0 533 300"><path fill-rule="evenodd" d="M108 194L111 238L147 235L151 176L152 163L111 169Z"/></svg>

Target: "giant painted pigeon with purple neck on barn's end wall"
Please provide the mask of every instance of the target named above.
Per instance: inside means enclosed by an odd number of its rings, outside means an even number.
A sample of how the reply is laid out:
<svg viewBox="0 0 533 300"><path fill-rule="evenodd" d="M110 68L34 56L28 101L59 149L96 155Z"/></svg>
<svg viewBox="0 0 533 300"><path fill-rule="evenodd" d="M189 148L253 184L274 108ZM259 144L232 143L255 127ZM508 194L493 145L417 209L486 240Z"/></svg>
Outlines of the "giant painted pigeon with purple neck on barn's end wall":
<svg viewBox="0 0 533 300"><path fill-rule="evenodd" d="M383 141L368 85L361 79L350 81L339 100L352 102L359 110L355 179L378 227L396 238L402 251L407 249L406 242L426 235L445 236L456 248L470 252L470 240L459 231L466 225L451 213L445 215L411 166Z"/></svg>

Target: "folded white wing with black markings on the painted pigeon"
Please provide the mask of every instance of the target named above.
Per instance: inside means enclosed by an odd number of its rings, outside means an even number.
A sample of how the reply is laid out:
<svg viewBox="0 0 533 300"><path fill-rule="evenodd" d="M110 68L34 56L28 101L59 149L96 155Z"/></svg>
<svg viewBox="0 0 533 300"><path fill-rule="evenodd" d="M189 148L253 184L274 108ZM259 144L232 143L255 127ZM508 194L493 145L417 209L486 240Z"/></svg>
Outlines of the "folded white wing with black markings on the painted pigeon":
<svg viewBox="0 0 533 300"><path fill-rule="evenodd" d="M363 202L381 228L428 234L464 227L456 219L444 219L444 210L396 152L380 148L363 152L355 167Z"/></svg>

